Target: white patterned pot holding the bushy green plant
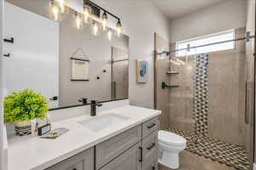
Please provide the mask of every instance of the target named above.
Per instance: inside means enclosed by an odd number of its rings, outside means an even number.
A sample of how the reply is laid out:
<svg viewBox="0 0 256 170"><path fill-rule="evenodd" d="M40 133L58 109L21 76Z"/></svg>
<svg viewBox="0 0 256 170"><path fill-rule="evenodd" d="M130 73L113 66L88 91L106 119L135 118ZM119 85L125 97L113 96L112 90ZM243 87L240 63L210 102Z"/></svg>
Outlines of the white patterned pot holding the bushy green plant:
<svg viewBox="0 0 256 170"><path fill-rule="evenodd" d="M18 136L26 136L31 134L31 122L15 122L15 133Z"/></svg>

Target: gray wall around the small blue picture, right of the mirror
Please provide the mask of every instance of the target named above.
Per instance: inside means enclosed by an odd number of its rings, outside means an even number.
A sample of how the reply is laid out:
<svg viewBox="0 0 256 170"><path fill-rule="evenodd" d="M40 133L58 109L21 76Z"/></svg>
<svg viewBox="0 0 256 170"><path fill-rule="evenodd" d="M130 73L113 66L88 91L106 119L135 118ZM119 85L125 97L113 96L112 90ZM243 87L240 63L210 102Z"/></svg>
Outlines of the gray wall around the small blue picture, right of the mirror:
<svg viewBox="0 0 256 170"><path fill-rule="evenodd" d="M169 40L170 23L153 3L145 0L95 0L117 14L130 37L129 95L131 105L154 108L154 32ZM136 82L136 59L148 61L148 82Z"/></svg>

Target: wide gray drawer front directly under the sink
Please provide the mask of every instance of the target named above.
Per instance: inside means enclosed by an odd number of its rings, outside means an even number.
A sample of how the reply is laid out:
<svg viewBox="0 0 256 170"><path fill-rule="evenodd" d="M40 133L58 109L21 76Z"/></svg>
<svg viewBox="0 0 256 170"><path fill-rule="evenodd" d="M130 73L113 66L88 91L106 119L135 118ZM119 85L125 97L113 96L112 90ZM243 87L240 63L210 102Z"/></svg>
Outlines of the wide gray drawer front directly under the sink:
<svg viewBox="0 0 256 170"><path fill-rule="evenodd" d="M133 127L96 145L96 169L106 165L142 139L142 126Z"/></svg>

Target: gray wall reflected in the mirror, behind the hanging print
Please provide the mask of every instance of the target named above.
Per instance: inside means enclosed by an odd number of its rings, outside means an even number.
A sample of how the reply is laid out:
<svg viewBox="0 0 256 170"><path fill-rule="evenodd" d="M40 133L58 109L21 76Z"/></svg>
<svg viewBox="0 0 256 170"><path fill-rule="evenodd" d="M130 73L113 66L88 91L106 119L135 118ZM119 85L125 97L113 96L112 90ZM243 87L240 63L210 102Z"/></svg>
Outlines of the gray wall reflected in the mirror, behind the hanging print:
<svg viewBox="0 0 256 170"><path fill-rule="evenodd" d="M111 48L129 51L129 37L115 37L108 41L107 33L98 36L91 34L90 26L77 30L73 23L73 11L60 23L60 106L79 104L85 97L96 100L111 99ZM90 59L89 82L71 81L71 60L74 52L82 48ZM83 55L80 51L74 57ZM83 58L82 58L83 59ZM106 70L107 72L103 72ZM100 77L99 80L96 77ZM128 77L128 74L127 74Z"/></svg>

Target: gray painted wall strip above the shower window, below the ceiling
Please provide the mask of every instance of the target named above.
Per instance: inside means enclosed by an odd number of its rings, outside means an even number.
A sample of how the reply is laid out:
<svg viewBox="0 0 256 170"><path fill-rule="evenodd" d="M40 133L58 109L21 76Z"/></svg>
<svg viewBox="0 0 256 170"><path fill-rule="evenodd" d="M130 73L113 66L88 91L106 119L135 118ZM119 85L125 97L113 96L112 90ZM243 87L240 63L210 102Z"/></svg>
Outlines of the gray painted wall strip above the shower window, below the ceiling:
<svg viewBox="0 0 256 170"><path fill-rule="evenodd" d="M229 0L171 21L171 42L246 26L247 0Z"/></svg>

